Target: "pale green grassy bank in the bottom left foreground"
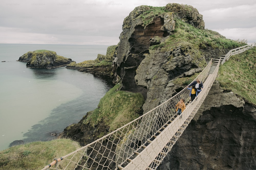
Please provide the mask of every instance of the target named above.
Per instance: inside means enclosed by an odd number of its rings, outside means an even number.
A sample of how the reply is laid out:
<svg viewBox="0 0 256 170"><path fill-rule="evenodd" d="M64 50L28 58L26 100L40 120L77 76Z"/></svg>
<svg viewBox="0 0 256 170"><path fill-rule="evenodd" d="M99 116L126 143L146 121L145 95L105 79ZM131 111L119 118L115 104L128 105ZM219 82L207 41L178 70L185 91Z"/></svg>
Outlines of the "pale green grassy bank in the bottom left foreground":
<svg viewBox="0 0 256 170"><path fill-rule="evenodd" d="M81 146L70 139L31 142L0 151L0 169L42 169L54 158L67 155ZM65 167L65 165L63 165ZM62 166L62 167L63 167Z"/></svg>

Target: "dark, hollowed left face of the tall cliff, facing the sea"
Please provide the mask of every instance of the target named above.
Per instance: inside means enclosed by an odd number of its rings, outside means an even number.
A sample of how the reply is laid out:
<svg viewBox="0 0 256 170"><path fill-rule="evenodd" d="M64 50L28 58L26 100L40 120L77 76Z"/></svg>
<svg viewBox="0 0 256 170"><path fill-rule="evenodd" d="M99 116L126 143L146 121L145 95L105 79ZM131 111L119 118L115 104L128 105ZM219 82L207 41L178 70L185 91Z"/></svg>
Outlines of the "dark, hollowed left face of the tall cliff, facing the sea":
<svg viewBox="0 0 256 170"><path fill-rule="evenodd" d="M135 84L136 69L145 58L144 54L149 53L148 47L155 45L150 39L155 36L166 37L174 29L173 12L156 16L151 23L144 25L142 18L138 16L149 9L148 6L136 7L124 20L123 32L113 62L113 67L116 68L116 81L122 80L125 85L123 90L136 91L139 88L146 91Z"/></svg>

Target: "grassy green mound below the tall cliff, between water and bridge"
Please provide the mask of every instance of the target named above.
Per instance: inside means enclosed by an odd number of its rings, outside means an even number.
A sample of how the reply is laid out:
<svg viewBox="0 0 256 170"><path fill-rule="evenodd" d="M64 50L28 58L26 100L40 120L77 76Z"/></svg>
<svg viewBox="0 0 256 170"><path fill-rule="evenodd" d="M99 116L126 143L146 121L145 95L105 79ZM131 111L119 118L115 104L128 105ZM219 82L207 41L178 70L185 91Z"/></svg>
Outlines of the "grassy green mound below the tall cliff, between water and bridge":
<svg viewBox="0 0 256 170"><path fill-rule="evenodd" d="M136 119L142 112L144 98L141 93L120 91L121 84L116 84L103 98L98 108L88 114L84 123L90 122L92 126L103 122L110 126L109 131L122 127Z"/></svg>

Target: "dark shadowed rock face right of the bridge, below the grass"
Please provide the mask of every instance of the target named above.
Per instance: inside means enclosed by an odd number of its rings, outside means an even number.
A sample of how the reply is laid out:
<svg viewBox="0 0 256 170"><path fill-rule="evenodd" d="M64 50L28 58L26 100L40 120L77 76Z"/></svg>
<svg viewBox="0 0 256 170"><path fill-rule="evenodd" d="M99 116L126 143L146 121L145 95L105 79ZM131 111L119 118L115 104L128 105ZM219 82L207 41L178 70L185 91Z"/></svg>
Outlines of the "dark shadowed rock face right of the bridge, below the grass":
<svg viewBox="0 0 256 170"><path fill-rule="evenodd" d="M256 107L213 84L158 169L255 169Z"/></svg>

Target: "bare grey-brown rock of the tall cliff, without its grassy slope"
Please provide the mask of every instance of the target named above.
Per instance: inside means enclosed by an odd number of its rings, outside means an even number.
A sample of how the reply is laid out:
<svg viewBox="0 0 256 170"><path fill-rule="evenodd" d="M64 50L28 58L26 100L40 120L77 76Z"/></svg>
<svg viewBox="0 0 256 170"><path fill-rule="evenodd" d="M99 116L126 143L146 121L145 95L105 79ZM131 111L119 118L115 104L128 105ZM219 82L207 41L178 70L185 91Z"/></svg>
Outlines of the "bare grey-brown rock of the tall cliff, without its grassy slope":
<svg viewBox="0 0 256 170"><path fill-rule="evenodd" d="M166 12L152 14L146 20L147 16L141 15L150 11L151 7L138 6L124 19L123 32L113 61L115 82L121 80L124 84L121 90L147 93L147 102L143 106L145 112L176 93L175 87L167 87L170 80L199 67L191 64L194 59L188 53L189 48L193 48L191 46L180 45L165 53L149 50L150 46L160 44L165 37L173 34L175 17L204 29L202 15L192 6L167 4L164 9ZM169 61L169 58L172 60Z"/></svg>

